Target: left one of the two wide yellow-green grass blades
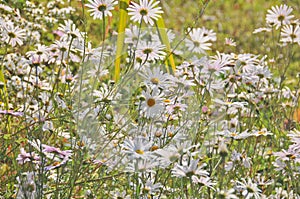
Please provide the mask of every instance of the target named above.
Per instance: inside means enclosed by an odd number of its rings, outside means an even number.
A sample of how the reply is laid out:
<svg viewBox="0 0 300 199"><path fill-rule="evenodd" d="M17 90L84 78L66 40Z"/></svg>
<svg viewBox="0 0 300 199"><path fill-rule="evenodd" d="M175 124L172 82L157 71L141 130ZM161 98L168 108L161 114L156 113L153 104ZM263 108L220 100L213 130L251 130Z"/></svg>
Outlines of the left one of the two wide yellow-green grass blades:
<svg viewBox="0 0 300 199"><path fill-rule="evenodd" d="M125 28L127 24L127 8L129 0L121 0L120 7L120 18L119 18L119 27L118 27L118 38L117 38L117 52L116 52L116 61L115 61L115 75L114 80L117 82L120 79L120 66L121 66L121 56L123 51L124 39L125 39Z"/></svg>

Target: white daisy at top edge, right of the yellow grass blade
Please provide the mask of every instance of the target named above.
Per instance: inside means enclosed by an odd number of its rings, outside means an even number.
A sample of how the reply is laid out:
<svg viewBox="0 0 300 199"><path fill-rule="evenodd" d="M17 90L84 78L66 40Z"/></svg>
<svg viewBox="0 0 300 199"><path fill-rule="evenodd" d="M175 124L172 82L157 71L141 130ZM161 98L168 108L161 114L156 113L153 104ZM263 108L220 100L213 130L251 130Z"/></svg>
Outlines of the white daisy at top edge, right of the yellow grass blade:
<svg viewBox="0 0 300 199"><path fill-rule="evenodd" d="M141 22L144 20L146 24L154 25L154 20L157 20L163 11L161 7L156 7L159 1L154 0L140 0L140 3L131 2L129 8L127 8L128 15L131 16L131 20L134 22Z"/></svg>

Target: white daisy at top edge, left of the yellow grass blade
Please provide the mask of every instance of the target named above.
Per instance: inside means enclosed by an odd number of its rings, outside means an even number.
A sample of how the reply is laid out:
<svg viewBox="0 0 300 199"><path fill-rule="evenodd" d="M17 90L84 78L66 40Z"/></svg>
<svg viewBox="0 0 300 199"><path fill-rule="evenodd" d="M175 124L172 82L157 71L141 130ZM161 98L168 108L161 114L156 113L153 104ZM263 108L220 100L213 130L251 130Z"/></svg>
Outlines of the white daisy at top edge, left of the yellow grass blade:
<svg viewBox="0 0 300 199"><path fill-rule="evenodd" d="M112 16L111 10L114 9L114 6L118 4L115 0L89 0L89 4L86 4L86 7L91 8L91 16L94 19L103 19L106 16Z"/></svg>

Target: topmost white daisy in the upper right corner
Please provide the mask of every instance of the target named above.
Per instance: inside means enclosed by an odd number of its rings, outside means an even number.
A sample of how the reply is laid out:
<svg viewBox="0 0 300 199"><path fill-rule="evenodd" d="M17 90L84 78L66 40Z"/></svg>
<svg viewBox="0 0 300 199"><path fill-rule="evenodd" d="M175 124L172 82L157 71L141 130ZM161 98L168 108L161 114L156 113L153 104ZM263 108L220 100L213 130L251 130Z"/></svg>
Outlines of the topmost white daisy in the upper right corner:
<svg viewBox="0 0 300 199"><path fill-rule="evenodd" d="M268 14L266 16L266 21L270 25L276 26L276 29L283 25L290 24L291 19L294 15L290 15L293 11L293 8L287 5L280 6L272 6L270 10L268 10Z"/></svg>

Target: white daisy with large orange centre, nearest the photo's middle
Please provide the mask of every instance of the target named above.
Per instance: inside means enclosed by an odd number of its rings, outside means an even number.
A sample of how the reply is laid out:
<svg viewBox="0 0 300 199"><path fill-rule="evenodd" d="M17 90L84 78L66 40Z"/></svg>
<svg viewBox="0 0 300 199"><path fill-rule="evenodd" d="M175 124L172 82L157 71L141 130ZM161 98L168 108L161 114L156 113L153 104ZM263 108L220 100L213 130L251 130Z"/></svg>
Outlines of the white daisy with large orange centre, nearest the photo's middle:
<svg viewBox="0 0 300 199"><path fill-rule="evenodd" d="M143 96L146 98L141 104L141 110L145 113L147 118L153 118L160 115L164 109L162 94L159 94L159 90L154 88L150 93L143 91Z"/></svg>

